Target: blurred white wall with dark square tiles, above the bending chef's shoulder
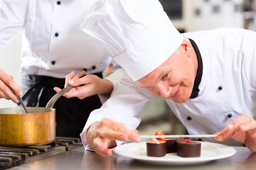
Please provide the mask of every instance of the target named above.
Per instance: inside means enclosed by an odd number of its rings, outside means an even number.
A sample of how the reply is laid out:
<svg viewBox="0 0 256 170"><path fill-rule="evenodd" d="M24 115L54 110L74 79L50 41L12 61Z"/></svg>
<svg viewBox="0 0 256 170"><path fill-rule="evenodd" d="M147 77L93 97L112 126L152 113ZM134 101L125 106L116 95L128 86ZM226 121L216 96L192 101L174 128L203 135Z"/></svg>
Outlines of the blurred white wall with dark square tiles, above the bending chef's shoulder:
<svg viewBox="0 0 256 170"><path fill-rule="evenodd" d="M192 31L216 29L220 27L243 28L243 0L194 0ZM217 11L214 12L214 7Z"/></svg>

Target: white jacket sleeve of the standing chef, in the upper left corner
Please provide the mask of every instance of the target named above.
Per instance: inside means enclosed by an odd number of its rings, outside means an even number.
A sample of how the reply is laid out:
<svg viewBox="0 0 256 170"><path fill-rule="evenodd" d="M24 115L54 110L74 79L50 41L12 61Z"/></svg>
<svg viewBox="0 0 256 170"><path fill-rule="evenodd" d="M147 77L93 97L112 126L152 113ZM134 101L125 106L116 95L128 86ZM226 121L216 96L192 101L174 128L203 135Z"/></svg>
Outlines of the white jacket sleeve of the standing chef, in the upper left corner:
<svg viewBox="0 0 256 170"><path fill-rule="evenodd" d="M27 0L1 0L0 3L0 48L6 48L25 24Z"/></svg>

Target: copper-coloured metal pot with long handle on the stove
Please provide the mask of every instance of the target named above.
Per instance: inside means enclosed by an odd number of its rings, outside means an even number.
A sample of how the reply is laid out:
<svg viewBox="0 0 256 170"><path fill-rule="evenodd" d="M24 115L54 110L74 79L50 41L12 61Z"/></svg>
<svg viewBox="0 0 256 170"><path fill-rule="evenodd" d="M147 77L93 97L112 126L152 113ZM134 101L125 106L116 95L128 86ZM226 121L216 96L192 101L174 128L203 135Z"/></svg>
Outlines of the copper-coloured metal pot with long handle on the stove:
<svg viewBox="0 0 256 170"><path fill-rule="evenodd" d="M0 108L0 146L44 145L55 141L56 110L52 107L70 88L54 95L46 108L27 107L29 113L22 107Z"/></svg>

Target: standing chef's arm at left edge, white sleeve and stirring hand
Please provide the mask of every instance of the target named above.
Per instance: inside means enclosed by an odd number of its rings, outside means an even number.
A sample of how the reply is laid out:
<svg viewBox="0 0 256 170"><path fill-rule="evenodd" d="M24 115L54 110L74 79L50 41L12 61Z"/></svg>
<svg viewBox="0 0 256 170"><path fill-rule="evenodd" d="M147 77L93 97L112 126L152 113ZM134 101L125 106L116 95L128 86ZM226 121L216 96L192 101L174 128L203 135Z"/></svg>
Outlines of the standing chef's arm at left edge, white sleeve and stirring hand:
<svg viewBox="0 0 256 170"><path fill-rule="evenodd" d="M6 48L27 21L27 0L0 1L0 48ZM8 57L8 56L0 56ZM10 87L17 95L22 95L20 86L15 80L0 69L0 98L11 99L18 103Z"/></svg>

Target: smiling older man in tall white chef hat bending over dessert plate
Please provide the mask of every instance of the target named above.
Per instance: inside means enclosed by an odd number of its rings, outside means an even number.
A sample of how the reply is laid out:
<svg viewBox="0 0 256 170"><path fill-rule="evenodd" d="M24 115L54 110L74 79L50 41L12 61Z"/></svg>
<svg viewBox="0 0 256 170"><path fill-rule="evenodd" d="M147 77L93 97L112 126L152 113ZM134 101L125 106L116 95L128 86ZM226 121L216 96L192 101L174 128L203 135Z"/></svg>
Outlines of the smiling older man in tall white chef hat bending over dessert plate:
<svg viewBox="0 0 256 170"><path fill-rule="evenodd" d="M101 155L141 141L140 111L162 97L189 134L256 151L256 33L214 29L180 34L158 0L101 0L83 20L128 73L94 110L81 138ZM157 114L157 113L156 113Z"/></svg>

